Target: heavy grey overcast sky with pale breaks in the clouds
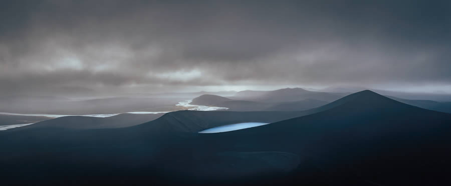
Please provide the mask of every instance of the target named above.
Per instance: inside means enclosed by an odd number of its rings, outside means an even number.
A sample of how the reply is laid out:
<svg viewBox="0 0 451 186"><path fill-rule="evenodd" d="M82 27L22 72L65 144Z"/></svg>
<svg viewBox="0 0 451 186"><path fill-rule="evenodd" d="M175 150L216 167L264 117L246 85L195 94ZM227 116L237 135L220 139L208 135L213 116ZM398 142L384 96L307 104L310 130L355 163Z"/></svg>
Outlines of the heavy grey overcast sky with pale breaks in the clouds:
<svg viewBox="0 0 451 186"><path fill-rule="evenodd" d="M0 95L451 93L449 0L2 0Z"/></svg>

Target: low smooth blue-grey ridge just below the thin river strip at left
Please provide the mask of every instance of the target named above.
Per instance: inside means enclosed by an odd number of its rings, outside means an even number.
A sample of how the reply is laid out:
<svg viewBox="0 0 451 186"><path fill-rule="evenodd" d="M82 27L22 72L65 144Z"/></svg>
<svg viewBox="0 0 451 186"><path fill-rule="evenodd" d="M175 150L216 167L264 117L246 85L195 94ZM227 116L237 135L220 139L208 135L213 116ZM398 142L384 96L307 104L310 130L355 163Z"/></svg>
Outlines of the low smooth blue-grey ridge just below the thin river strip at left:
<svg viewBox="0 0 451 186"><path fill-rule="evenodd" d="M31 125L10 129L20 131L35 128L66 128L66 129L93 129L93 128L119 128L141 124L154 120L163 113L133 114L121 113L110 117L64 116L37 122Z"/></svg>

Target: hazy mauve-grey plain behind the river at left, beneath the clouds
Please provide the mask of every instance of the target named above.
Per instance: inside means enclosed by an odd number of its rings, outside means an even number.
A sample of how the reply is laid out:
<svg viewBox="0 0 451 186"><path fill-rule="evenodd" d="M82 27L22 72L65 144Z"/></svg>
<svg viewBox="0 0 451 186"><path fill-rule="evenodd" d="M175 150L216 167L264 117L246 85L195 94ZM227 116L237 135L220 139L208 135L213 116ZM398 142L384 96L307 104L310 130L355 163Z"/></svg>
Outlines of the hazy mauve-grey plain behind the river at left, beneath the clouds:
<svg viewBox="0 0 451 186"><path fill-rule="evenodd" d="M0 110L10 113L43 113L84 115L123 113L130 111L171 111L175 104L188 98L166 97L108 97L80 100L50 98L0 99ZM192 97L191 97L192 98ZM26 106L24 106L26 105Z"/></svg>

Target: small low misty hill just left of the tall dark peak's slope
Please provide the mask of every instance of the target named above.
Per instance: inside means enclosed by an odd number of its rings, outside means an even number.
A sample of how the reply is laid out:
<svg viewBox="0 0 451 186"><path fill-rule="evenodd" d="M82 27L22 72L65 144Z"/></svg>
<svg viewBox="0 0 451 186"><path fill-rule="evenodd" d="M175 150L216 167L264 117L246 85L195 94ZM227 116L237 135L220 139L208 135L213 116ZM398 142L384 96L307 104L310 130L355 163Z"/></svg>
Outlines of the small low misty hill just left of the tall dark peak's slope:
<svg viewBox="0 0 451 186"><path fill-rule="evenodd" d="M319 107L329 103L328 101L317 100L317 99L304 99L300 101L291 101L278 103L273 106L266 108L266 110L279 110L279 111L296 111L296 110L307 110L315 107Z"/></svg>

